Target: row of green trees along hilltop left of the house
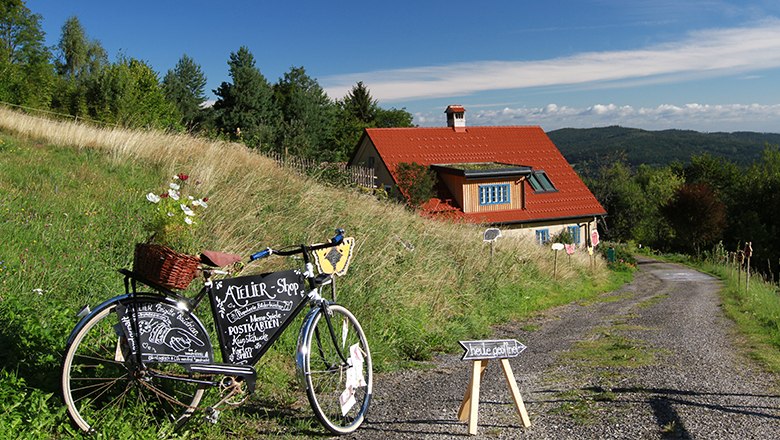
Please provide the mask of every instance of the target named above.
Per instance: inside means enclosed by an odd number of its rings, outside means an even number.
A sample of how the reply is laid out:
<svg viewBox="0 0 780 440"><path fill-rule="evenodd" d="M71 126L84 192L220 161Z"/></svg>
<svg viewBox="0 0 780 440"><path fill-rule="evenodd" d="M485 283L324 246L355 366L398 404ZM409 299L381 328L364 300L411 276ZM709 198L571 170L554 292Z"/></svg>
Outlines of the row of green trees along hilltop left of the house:
<svg viewBox="0 0 780 440"><path fill-rule="evenodd" d="M245 46L229 54L231 81L206 103L206 77L183 54L160 75L143 54L109 54L78 17L62 25L59 43L44 44L42 16L25 0L0 3L0 103L126 128L188 131L243 142L265 152L345 161L367 127L408 127L405 109L384 109L358 82L332 100L303 66L271 83Z"/></svg>

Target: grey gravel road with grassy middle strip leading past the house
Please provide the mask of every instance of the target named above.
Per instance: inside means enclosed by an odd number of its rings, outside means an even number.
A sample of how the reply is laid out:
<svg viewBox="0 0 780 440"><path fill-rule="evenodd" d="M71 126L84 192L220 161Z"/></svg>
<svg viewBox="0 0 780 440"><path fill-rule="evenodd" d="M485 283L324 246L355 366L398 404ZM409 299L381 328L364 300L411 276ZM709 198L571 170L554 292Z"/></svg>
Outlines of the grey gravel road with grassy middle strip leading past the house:
<svg viewBox="0 0 780 440"><path fill-rule="evenodd" d="M511 366L530 428L491 361L469 436L457 412L471 363L445 355L429 370L377 376L368 419L349 438L780 438L778 378L735 345L719 288L708 275L643 259L618 291L496 329L528 346Z"/></svg>

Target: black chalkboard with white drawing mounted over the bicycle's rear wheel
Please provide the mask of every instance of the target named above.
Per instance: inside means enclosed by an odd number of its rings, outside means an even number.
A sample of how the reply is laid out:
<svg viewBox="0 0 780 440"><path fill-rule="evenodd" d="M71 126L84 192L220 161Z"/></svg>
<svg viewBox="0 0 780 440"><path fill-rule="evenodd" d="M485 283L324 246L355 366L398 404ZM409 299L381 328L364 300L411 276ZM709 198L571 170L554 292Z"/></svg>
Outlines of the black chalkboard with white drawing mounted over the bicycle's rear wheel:
<svg viewBox="0 0 780 440"><path fill-rule="evenodd" d="M140 345L143 362L213 362L208 333L190 313L161 301L119 304L116 311L130 349L125 357Z"/></svg>

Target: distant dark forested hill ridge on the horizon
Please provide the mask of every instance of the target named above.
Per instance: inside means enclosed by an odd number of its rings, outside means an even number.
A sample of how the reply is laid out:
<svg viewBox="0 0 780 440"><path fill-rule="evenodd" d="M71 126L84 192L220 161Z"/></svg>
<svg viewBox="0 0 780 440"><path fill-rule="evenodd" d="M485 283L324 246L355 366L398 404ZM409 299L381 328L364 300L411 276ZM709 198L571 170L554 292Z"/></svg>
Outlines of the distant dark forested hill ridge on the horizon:
<svg viewBox="0 0 780 440"><path fill-rule="evenodd" d="M563 128L547 133L578 171L592 171L625 156L631 166L690 162L709 153L740 165L761 157L767 144L780 145L778 133L701 133L692 130L647 131L638 128Z"/></svg>

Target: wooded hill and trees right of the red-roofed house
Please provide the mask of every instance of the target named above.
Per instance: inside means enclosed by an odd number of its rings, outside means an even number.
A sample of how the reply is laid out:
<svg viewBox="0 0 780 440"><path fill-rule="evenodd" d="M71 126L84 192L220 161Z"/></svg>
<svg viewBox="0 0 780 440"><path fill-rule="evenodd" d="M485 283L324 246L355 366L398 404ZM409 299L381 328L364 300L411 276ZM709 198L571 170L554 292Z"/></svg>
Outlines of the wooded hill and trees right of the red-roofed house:
<svg viewBox="0 0 780 440"><path fill-rule="evenodd" d="M780 274L780 134L567 128L548 133L607 210L608 240ZM715 255L718 254L718 255Z"/></svg>

